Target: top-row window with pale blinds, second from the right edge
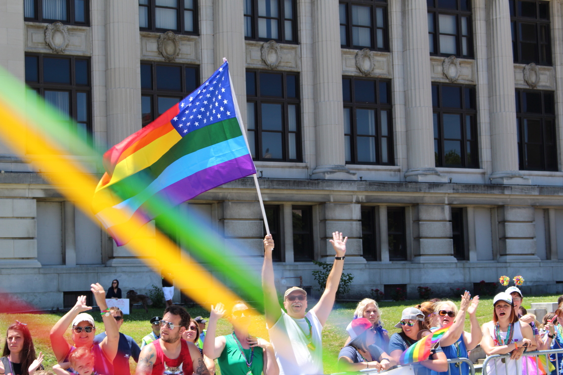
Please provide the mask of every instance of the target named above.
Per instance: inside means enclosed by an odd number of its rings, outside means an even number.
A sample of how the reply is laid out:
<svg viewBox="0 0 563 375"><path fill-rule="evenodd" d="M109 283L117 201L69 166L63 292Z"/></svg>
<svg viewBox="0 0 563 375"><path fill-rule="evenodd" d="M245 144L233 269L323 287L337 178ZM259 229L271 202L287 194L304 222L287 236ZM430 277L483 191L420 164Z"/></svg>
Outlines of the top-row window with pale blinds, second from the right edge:
<svg viewBox="0 0 563 375"><path fill-rule="evenodd" d="M470 0L427 0L430 54L473 58Z"/></svg>

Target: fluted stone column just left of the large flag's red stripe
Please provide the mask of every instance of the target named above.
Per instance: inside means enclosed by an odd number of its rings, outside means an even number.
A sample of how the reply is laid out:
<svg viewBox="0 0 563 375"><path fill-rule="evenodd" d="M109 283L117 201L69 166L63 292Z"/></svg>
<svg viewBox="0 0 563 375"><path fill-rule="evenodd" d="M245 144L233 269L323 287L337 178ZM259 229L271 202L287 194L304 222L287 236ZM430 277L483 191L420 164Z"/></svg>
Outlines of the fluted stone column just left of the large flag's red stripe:
<svg viewBox="0 0 563 375"><path fill-rule="evenodd" d="M106 2L108 146L141 129L138 1Z"/></svg>

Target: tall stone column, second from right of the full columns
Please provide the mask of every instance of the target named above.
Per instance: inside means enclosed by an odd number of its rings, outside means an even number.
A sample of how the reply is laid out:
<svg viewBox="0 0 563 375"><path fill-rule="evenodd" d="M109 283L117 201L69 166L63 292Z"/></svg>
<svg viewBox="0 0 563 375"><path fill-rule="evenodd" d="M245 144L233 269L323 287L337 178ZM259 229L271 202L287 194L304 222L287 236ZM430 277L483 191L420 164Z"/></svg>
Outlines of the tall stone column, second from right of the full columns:
<svg viewBox="0 0 563 375"><path fill-rule="evenodd" d="M405 180L447 182L447 177L440 175L435 168L427 12L425 1L403 2L406 146L409 159Z"/></svg>

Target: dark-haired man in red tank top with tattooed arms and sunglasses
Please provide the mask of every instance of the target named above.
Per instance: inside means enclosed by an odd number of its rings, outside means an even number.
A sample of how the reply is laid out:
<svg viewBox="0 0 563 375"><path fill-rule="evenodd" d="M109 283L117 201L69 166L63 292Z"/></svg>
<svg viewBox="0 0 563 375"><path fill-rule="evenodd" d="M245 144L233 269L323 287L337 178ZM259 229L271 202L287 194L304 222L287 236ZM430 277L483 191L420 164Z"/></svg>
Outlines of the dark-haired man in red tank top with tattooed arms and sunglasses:
<svg viewBox="0 0 563 375"><path fill-rule="evenodd" d="M141 350L135 375L209 375L198 347L181 338L190 314L178 305L168 306L160 320L160 338Z"/></svg>

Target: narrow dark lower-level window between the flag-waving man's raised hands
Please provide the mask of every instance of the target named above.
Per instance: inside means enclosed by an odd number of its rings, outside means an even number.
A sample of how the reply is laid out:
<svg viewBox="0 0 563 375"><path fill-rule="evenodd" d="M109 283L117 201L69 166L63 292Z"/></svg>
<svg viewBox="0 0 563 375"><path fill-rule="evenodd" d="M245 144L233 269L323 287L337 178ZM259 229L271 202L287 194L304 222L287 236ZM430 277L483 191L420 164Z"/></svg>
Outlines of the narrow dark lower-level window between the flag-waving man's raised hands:
<svg viewBox="0 0 563 375"><path fill-rule="evenodd" d="M313 260L313 225L311 206L293 206L293 260Z"/></svg>

